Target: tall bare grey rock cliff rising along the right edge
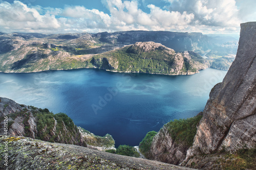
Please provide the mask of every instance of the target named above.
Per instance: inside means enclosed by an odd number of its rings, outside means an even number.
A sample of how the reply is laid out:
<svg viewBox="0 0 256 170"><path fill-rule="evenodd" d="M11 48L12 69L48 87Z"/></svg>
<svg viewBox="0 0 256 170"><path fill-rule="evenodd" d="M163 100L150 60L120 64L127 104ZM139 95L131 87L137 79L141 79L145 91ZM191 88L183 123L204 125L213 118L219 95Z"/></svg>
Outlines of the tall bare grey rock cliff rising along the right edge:
<svg viewBox="0 0 256 170"><path fill-rule="evenodd" d="M210 92L186 161L256 144L256 22L241 24L237 57L222 83Z"/></svg>

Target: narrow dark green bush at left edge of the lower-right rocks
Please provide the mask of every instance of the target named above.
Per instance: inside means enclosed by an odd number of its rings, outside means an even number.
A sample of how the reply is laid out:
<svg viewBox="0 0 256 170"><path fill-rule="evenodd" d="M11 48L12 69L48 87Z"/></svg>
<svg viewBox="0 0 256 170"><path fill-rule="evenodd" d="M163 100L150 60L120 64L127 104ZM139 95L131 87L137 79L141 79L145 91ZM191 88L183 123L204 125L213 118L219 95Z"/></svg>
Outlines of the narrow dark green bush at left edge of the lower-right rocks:
<svg viewBox="0 0 256 170"><path fill-rule="evenodd" d="M150 153L151 144L156 134L156 131L147 132L146 136L140 142L140 152L147 158L150 157L148 154Z"/></svg>

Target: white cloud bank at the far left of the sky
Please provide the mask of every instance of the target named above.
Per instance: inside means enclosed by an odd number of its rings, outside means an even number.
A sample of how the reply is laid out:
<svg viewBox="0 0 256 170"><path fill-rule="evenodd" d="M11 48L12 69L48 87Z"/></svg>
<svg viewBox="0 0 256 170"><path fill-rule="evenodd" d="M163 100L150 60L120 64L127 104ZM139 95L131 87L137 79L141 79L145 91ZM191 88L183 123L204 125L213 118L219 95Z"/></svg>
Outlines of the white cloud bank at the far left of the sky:
<svg viewBox="0 0 256 170"><path fill-rule="evenodd" d="M41 32L60 28L54 15L40 15L36 9L28 8L19 1L1 3L0 11L0 31L3 32Z"/></svg>

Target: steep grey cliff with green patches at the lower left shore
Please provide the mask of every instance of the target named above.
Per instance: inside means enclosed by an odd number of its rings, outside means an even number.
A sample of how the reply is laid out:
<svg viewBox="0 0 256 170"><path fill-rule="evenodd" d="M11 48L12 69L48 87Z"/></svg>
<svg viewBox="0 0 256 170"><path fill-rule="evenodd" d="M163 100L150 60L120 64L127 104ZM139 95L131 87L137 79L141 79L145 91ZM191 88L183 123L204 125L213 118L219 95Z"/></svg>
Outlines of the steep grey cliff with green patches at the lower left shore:
<svg viewBox="0 0 256 170"><path fill-rule="evenodd" d="M45 141L70 143L86 147L86 142L81 137L73 122L66 125L63 119L57 121L48 113L48 110L38 110L25 105L19 105L12 100L1 98L0 116L8 117L8 135L28 136L40 138ZM43 117L44 114L47 116ZM66 122L67 123L67 122ZM4 125L4 122L1 121ZM0 133L4 134L4 126L1 126Z"/></svg>

